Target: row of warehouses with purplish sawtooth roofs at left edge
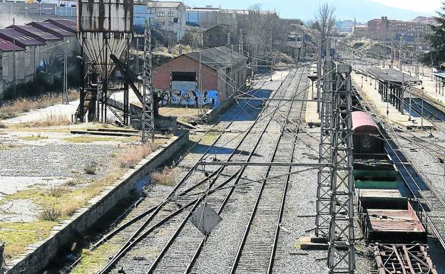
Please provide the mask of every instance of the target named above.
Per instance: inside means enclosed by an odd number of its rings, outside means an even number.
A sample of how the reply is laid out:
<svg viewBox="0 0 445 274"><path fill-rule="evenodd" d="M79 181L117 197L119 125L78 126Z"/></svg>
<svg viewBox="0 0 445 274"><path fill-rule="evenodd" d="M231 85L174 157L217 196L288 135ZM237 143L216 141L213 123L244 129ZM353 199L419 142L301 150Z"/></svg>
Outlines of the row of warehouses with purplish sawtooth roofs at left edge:
<svg viewBox="0 0 445 274"><path fill-rule="evenodd" d="M1 28L0 100L14 83L14 78L19 84L33 80L39 71L51 75L60 73L55 66L57 60L61 61L65 51L78 48L75 26L76 22L70 20L48 19Z"/></svg>

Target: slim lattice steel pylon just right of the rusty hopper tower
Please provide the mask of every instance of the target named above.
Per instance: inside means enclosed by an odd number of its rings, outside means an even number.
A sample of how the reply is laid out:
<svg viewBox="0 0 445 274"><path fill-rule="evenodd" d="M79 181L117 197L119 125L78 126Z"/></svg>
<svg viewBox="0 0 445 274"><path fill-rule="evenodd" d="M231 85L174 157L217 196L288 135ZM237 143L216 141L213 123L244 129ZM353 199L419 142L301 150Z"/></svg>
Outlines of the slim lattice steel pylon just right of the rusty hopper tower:
<svg viewBox="0 0 445 274"><path fill-rule="evenodd" d="M144 63L143 63L143 104L142 104L142 142L155 139L155 104L152 85L152 52L150 19L145 19Z"/></svg>

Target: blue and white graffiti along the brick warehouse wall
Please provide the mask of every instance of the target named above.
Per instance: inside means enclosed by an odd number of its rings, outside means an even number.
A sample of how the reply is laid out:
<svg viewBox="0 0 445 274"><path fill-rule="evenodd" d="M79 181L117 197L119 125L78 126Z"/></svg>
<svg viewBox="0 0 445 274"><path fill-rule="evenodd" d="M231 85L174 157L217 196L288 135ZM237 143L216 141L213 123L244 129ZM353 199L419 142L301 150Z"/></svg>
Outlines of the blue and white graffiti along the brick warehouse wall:
<svg viewBox="0 0 445 274"><path fill-rule="evenodd" d="M219 105L218 91L216 90L203 90L202 93L199 90L172 90L170 98L172 105L198 106L201 100L203 105L208 105L209 107L217 107Z"/></svg>

